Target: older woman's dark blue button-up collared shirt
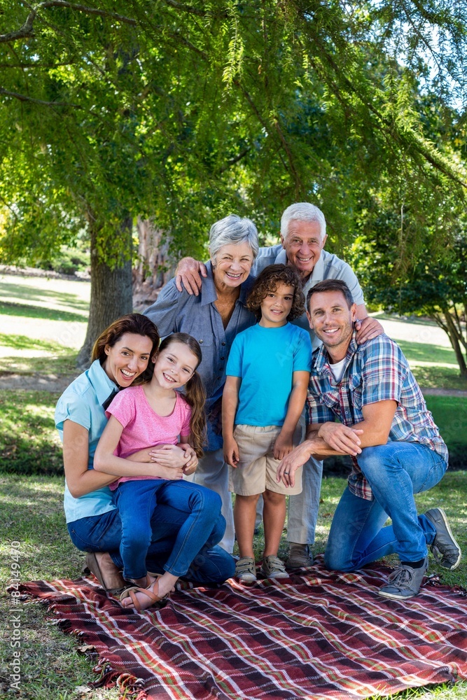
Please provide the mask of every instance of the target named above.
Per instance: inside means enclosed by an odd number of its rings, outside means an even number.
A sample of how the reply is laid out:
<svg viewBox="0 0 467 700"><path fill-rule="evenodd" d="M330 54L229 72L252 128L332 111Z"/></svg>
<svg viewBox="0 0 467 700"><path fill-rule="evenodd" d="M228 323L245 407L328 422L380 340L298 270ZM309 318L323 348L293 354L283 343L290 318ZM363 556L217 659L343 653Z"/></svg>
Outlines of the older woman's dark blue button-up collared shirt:
<svg viewBox="0 0 467 700"><path fill-rule="evenodd" d="M161 337L183 332L193 335L200 343L202 362L197 368L206 387L206 411L208 418L208 449L222 447L220 420L222 392L225 384L225 366L235 336L256 323L254 314L246 309L246 297L253 286L250 275L240 286L240 295L224 328L221 314L216 309L216 286L211 262L207 262L207 277L202 278L199 295L179 292L175 279L162 288L158 299L144 314L157 325Z"/></svg>

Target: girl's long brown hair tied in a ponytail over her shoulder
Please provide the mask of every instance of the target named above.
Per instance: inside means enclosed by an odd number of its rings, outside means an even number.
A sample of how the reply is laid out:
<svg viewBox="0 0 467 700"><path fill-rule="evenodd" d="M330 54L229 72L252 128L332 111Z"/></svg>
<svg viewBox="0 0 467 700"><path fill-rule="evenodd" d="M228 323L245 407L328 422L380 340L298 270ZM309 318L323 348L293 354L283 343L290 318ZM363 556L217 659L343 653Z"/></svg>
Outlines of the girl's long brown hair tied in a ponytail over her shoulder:
<svg viewBox="0 0 467 700"><path fill-rule="evenodd" d="M200 365L202 360L201 348L200 344L195 338L193 338L193 336L188 335L188 333L172 333L172 335L167 335L167 337L162 340L162 343L159 346L159 351L161 352L162 350L165 350L172 345L172 343L183 343L183 345L188 346L190 351L197 359L196 367ZM190 418L190 433L193 440L193 449L198 457L202 457L202 448L204 442L206 441L206 414L204 412L206 390L200 375L196 372L196 369L191 375L190 379L188 379L186 382L183 395L192 409Z"/></svg>

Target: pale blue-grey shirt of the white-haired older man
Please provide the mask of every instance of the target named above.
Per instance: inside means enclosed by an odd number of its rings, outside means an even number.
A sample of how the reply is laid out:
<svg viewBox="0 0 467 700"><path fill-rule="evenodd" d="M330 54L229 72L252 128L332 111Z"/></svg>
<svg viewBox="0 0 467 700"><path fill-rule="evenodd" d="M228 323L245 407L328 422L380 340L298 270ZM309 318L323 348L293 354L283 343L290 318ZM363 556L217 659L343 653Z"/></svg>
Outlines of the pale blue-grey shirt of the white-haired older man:
<svg viewBox="0 0 467 700"><path fill-rule="evenodd" d="M270 246L268 248L260 248L258 257L256 258L252 272L255 276L258 276L260 272L265 269L268 265L287 265L287 253L281 244L277 246ZM358 283L356 274L351 269L350 265L344 260L337 258L337 255L333 253L328 253L328 251L321 251L318 262L314 265L313 272L310 274L309 278L303 286L303 293L305 294L305 299L307 298L308 290L314 287L318 282L323 281L323 279L342 279L349 287L352 297L354 297L354 302L358 304L364 304L363 292L361 286ZM299 325L300 328L305 328L309 332L309 337L312 341L313 349L319 348L321 345L321 340L314 335L314 332L309 328L307 314L304 313L302 316L295 318L292 321L294 325Z"/></svg>

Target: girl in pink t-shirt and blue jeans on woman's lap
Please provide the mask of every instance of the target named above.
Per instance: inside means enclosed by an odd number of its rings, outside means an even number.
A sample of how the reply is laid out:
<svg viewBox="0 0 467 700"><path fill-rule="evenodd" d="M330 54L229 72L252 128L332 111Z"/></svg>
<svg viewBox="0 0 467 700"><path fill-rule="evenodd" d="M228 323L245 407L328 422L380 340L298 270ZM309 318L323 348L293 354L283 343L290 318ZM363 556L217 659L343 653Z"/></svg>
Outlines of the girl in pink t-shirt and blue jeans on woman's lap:
<svg viewBox="0 0 467 700"><path fill-rule="evenodd" d="M123 576L136 586L123 593L123 605L138 610L156 603L186 574L200 549L221 540L216 525L221 498L203 486L183 481L195 471L202 456L205 392L196 372L202 359L197 341L186 333L169 335L160 344L151 381L130 386L113 399L106 414L109 423L95 454L95 468L110 474L122 459L141 449L165 445L157 451L160 478L122 477L110 485L122 521L120 554ZM184 393L175 391L181 386ZM191 444L190 444L191 442ZM192 447L193 446L193 447ZM181 451L183 467L164 465L164 452ZM151 515L155 505L165 503L190 515L174 541L165 573L155 579L146 570L151 544ZM211 539L216 541L211 541Z"/></svg>

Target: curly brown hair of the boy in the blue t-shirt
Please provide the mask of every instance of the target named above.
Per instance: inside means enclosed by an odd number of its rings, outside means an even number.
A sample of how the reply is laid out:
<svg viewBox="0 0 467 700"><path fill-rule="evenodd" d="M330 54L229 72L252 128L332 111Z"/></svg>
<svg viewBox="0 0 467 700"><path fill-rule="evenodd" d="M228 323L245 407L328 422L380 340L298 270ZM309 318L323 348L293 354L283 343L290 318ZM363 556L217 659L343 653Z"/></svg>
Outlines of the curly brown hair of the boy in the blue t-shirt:
<svg viewBox="0 0 467 700"><path fill-rule="evenodd" d="M305 296L302 292L302 281L291 265L269 265L258 274L253 288L246 300L246 308L253 311L258 320L261 318L261 302L268 292L275 292L279 283L293 287L291 312L287 321L293 321L305 312Z"/></svg>

